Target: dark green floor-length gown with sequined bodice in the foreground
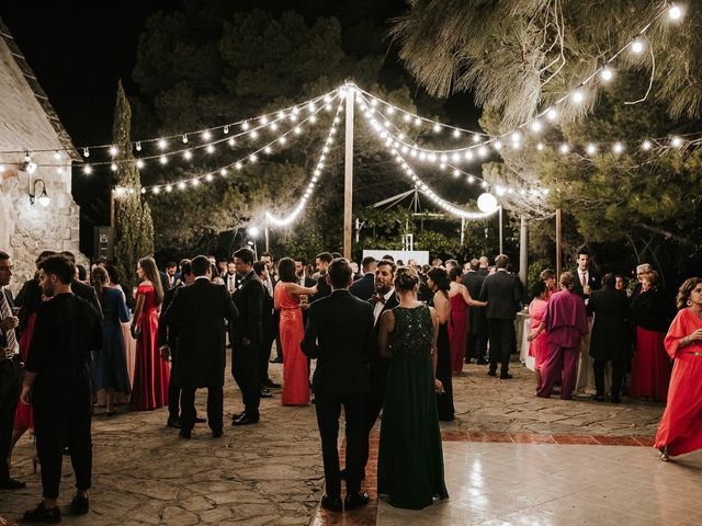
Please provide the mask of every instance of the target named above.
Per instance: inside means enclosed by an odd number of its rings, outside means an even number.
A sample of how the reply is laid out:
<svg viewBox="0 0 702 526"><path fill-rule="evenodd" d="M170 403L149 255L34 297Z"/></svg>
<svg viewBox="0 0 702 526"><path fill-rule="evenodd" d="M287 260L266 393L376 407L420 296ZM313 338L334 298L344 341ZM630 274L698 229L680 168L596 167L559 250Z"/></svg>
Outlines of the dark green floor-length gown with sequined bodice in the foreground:
<svg viewBox="0 0 702 526"><path fill-rule="evenodd" d="M446 499L443 453L431 366L429 307L396 307L390 333L377 461L377 492L397 507L420 510Z"/></svg>

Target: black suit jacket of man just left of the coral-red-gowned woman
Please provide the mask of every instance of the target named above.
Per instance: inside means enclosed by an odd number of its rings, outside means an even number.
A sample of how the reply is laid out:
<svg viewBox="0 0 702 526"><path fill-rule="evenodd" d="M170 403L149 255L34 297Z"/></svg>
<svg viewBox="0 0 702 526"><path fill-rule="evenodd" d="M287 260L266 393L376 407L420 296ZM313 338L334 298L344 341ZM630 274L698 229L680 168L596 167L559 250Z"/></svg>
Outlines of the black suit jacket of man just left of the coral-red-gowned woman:
<svg viewBox="0 0 702 526"><path fill-rule="evenodd" d="M263 341L262 317L265 287L253 271L241 278L239 287L231 295L239 310L239 321L229 325L233 328L231 343L238 344L242 339L247 339L252 345L260 345Z"/></svg>

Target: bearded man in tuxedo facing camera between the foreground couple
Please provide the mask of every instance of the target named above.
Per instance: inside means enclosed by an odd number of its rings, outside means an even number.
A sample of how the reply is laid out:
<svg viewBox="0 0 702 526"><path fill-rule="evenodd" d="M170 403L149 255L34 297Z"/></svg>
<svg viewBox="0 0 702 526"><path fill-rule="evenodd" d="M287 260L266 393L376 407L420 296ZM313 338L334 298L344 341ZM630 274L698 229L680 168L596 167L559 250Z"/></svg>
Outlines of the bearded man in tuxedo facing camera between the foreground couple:
<svg viewBox="0 0 702 526"><path fill-rule="evenodd" d="M375 294L370 299L370 302L373 306L373 331L376 343L383 312L397 307L397 296L395 296L395 288L393 286L395 268L395 263L382 260L377 262L377 268L375 270ZM383 409L388 367L389 359L382 357L377 348L374 348L370 358L371 392L365 397L363 411L364 428L363 443L361 444L363 460L362 477L365 477L365 465L369 461L371 431L375 425L378 414L381 414L381 409Z"/></svg>

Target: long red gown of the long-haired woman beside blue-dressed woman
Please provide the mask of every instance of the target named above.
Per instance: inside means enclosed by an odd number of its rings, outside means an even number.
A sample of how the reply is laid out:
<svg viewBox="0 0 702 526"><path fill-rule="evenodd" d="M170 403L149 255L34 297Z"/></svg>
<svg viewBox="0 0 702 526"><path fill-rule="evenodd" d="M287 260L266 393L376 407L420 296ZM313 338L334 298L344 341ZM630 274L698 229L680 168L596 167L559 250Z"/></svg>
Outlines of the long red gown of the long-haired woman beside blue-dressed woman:
<svg viewBox="0 0 702 526"><path fill-rule="evenodd" d="M168 404L168 362L158 350L158 308L152 285L139 285L136 296L144 296L138 320L141 333L136 341L132 407L139 411Z"/></svg>

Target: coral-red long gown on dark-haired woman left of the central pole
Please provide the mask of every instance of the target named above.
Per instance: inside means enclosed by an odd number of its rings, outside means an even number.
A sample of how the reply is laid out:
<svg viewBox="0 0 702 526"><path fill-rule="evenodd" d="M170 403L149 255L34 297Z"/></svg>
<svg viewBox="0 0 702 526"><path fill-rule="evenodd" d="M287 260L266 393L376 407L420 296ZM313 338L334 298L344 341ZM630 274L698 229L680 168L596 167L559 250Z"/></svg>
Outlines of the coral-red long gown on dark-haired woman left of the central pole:
<svg viewBox="0 0 702 526"><path fill-rule="evenodd" d="M307 357L299 348L305 335L299 296L290 294L285 283L279 282L273 291L275 309L281 311L279 325L283 346L283 405L309 403Z"/></svg>

